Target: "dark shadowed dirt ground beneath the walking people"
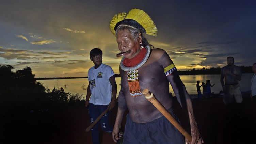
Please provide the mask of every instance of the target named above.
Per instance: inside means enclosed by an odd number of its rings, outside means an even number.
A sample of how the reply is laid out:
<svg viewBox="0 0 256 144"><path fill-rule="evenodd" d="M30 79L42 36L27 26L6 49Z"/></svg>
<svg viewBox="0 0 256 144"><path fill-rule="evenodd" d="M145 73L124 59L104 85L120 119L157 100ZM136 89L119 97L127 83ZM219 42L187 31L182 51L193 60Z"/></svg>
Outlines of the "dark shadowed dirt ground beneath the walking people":
<svg viewBox="0 0 256 144"><path fill-rule="evenodd" d="M190 132L187 112L174 99L174 113L181 125ZM227 108L222 97L192 100L194 114L205 144L255 143L256 106L249 96L243 97L243 119L228 122ZM235 108L235 105L234 105ZM114 125L117 107L111 110L110 124ZM128 113L128 111L127 111ZM125 128L126 118L122 121ZM1 118L0 143L33 144L91 144L91 132L85 132L90 125L85 107L53 112L10 113ZM171 133L170 133L171 134ZM114 144L110 133L101 131L102 144Z"/></svg>

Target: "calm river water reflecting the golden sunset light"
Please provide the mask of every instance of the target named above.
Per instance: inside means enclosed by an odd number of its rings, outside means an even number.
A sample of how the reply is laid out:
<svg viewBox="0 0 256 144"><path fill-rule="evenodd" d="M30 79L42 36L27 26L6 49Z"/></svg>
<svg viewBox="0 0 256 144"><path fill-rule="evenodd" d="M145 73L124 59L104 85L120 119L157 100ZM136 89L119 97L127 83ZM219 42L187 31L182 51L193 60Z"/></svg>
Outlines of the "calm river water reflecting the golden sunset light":
<svg viewBox="0 0 256 144"><path fill-rule="evenodd" d="M253 73L247 73L242 75L242 80L239 82L241 91L250 91L251 89L251 78L253 77ZM185 84L186 89L189 94L197 94L196 92L196 81L200 81L200 83L204 82L206 83L206 80L211 80L211 84L215 85L211 88L212 92L219 93L221 88L220 84L220 75L182 75L180 76L180 79ZM87 94L87 86L88 86L88 80L87 78L80 78L80 79L56 79L56 80L37 80L38 82L41 82L47 89L60 88L63 87L65 92L70 93L79 93L83 94L83 97ZM119 85L121 81L121 78L116 78L116 84L117 84L117 96L119 94L121 86ZM174 95L171 85L170 92ZM202 87L201 87L202 91Z"/></svg>

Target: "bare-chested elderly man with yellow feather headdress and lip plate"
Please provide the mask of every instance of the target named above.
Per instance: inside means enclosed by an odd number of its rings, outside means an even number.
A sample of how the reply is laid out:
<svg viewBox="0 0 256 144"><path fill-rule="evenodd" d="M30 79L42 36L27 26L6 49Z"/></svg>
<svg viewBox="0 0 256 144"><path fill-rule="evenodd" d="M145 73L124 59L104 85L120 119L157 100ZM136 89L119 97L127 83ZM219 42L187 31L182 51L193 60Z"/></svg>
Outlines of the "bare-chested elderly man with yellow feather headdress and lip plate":
<svg viewBox="0 0 256 144"><path fill-rule="evenodd" d="M203 143L195 121L192 103L177 69L163 49L154 48L143 34L156 36L157 29L151 18L139 9L128 14L119 13L110 21L110 31L116 36L118 49L123 56L120 63L121 90L112 138L116 142L124 112L128 108L123 144L184 144ZM173 113L171 84L179 103L188 108L192 142L181 133L142 95L148 88L160 103ZM178 120L178 119L177 119Z"/></svg>

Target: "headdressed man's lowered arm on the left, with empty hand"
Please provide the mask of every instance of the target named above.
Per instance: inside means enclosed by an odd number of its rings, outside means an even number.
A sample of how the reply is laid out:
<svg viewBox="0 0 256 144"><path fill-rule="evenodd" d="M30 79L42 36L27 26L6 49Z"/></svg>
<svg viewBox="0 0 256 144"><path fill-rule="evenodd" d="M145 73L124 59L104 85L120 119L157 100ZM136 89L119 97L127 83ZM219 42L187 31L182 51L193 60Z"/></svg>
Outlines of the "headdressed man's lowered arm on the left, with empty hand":
<svg viewBox="0 0 256 144"><path fill-rule="evenodd" d="M115 119L115 125L112 131L112 139L114 140L115 143L117 142L118 138L121 137L121 135L119 135L119 129L121 128L121 122L126 109L127 109L126 100L121 88L118 96L118 109L117 109L117 114Z"/></svg>

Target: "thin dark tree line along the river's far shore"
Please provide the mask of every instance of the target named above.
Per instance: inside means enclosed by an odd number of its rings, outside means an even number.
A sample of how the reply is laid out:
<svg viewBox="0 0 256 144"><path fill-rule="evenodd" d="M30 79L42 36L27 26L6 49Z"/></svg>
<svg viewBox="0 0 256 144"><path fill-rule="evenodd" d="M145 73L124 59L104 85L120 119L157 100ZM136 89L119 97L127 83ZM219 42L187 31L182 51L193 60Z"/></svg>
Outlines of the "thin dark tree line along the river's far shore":
<svg viewBox="0 0 256 144"><path fill-rule="evenodd" d="M253 73L252 66L240 66L242 73ZM179 75L212 75L220 74L220 67L212 68L202 68L202 69L190 69L186 71L178 71ZM120 77L120 74L115 74L115 77ZM79 79L88 77L52 77L52 78L35 78L36 80L50 80L50 79Z"/></svg>

